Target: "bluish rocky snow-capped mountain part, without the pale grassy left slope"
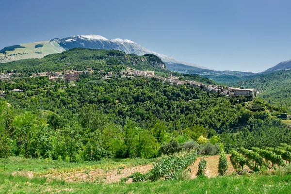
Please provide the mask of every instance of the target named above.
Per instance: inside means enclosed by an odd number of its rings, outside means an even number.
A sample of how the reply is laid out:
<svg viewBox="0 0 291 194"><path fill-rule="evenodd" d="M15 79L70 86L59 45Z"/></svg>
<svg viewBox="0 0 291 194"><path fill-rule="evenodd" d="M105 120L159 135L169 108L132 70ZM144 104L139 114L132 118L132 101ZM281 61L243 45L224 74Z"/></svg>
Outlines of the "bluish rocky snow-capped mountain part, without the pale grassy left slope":
<svg viewBox="0 0 291 194"><path fill-rule="evenodd" d="M183 64L194 66L202 69L208 69L201 65L195 65L187 62L182 62L169 57L164 54L160 54L149 49L142 47L141 45L127 39L115 38L109 40L100 35L75 35L67 38L55 38L50 40L50 44L59 45L65 50L81 47L86 49L106 49L106 50L121 50L126 53L133 53L136 55L154 54L162 59L165 64Z"/></svg>

